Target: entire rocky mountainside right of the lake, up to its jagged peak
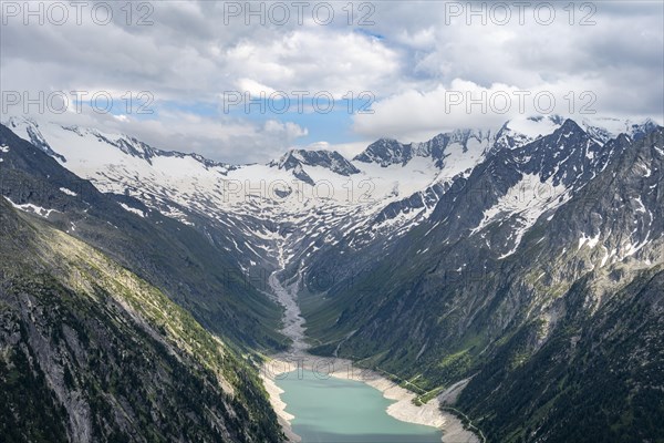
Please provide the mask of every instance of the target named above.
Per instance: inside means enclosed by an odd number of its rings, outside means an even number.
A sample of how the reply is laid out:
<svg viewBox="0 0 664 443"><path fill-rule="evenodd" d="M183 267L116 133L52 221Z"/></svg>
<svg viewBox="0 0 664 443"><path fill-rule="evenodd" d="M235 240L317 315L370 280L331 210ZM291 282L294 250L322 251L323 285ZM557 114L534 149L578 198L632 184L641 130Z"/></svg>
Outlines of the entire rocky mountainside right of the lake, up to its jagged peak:
<svg viewBox="0 0 664 443"><path fill-rule="evenodd" d="M600 146L568 121L501 150L427 222L304 296L308 333L432 394L471 378L459 405L490 441L656 441L663 174L661 127ZM339 253L320 266L350 272Z"/></svg>

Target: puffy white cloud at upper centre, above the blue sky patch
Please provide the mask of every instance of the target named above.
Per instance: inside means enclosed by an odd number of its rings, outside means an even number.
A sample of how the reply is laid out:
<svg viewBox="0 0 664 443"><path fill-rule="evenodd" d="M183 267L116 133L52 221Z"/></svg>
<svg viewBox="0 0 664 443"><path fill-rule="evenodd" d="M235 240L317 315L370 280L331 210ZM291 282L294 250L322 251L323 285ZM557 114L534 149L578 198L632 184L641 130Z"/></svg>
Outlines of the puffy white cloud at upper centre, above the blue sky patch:
<svg viewBox="0 0 664 443"><path fill-rule="evenodd" d="M266 85L268 93L328 91L335 97L375 87L385 92L400 70L398 54L380 40L324 27L289 32L269 44L242 40L225 61L231 76L251 79L251 85Z"/></svg>

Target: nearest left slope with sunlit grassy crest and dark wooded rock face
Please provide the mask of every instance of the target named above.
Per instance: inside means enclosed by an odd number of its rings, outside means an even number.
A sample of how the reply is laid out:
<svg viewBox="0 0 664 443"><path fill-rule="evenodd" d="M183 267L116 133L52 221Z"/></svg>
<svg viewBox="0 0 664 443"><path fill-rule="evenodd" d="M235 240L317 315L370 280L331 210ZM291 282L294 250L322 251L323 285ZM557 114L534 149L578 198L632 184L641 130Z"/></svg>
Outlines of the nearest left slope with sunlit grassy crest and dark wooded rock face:
<svg viewBox="0 0 664 443"><path fill-rule="evenodd" d="M0 198L3 441L281 440L250 363L35 217Z"/></svg>

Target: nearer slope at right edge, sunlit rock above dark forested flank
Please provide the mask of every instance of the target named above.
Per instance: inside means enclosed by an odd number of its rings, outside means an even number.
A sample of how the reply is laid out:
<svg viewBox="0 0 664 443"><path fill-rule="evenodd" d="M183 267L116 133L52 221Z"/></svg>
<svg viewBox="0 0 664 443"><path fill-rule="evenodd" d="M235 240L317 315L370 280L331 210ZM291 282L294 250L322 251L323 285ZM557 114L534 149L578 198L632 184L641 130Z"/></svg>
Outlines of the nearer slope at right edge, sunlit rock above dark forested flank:
<svg viewBox="0 0 664 443"><path fill-rule="evenodd" d="M612 145L615 159L529 241L535 251L550 233L511 290L530 279L527 309L550 307L500 343L460 396L496 441L661 441L663 131ZM506 425L517 416L521 426Z"/></svg>

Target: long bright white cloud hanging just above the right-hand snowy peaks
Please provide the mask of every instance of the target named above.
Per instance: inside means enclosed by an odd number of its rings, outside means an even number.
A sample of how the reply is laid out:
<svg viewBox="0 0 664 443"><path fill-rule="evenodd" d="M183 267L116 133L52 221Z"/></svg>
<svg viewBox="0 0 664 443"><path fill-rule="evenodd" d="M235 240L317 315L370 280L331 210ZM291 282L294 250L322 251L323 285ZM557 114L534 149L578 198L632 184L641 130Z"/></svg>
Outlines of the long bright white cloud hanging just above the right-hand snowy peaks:
<svg viewBox="0 0 664 443"><path fill-rule="evenodd" d="M640 94L639 90L627 90L619 95L605 79L593 76L563 78L528 89L501 83L485 87L455 79L449 85L407 90L377 101L373 114L354 116L353 128L365 137L419 142L454 128L497 130L506 121L523 115L614 115L635 121L651 116L661 121L661 116L640 112ZM625 96L631 100L625 101Z"/></svg>

